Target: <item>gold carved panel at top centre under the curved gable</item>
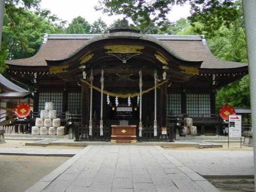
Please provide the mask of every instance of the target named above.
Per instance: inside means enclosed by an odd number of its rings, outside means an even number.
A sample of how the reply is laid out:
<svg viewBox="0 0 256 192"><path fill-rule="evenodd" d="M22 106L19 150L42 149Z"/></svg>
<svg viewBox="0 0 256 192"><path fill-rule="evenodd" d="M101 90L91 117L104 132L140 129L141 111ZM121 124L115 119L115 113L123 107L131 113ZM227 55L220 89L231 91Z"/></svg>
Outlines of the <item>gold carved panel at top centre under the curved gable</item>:
<svg viewBox="0 0 256 192"><path fill-rule="evenodd" d="M139 50L144 49L141 45L106 45L104 49L108 49L107 54L110 53L138 53L141 54Z"/></svg>

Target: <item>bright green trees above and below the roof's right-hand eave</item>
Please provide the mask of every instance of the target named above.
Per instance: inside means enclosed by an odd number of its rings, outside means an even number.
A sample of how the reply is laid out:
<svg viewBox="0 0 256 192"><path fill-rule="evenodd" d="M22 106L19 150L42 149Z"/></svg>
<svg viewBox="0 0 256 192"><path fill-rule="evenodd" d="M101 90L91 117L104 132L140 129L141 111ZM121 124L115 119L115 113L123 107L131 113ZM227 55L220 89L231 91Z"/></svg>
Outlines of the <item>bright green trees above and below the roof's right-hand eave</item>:
<svg viewBox="0 0 256 192"><path fill-rule="evenodd" d="M207 42L216 58L247 63L246 39L244 32L243 13L241 1L236 1L238 17L227 29L222 26L214 37ZM245 75L241 80L230 83L217 90L216 110L223 104L231 104L234 107L250 107L249 76Z"/></svg>

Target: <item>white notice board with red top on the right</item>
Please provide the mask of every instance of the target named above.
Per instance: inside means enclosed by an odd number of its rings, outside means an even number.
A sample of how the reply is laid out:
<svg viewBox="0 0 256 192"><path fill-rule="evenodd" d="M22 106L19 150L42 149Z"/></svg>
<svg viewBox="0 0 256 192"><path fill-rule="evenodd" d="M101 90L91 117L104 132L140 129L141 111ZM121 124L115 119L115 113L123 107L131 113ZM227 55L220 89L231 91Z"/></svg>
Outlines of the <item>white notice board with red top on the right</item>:
<svg viewBox="0 0 256 192"><path fill-rule="evenodd" d="M228 136L242 137L242 117L241 115L228 116Z"/></svg>

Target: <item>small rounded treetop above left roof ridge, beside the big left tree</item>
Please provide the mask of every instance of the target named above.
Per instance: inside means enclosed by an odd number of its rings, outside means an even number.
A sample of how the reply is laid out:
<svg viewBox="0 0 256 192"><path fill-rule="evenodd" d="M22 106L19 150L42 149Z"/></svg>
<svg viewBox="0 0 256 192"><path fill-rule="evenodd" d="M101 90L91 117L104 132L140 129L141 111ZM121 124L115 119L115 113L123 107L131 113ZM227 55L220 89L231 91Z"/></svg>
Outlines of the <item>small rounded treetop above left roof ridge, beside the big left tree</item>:
<svg viewBox="0 0 256 192"><path fill-rule="evenodd" d="M68 34L83 34L90 33L91 25L85 20L85 18L78 16L72 20L66 28Z"/></svg>

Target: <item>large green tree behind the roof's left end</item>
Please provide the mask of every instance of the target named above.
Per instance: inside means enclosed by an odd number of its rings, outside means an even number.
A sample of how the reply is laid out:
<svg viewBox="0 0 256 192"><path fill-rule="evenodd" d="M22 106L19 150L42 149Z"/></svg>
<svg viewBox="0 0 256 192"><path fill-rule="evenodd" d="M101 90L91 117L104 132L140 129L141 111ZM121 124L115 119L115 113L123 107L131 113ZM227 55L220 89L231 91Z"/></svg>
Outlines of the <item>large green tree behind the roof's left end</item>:
<svg viewBox="0 0 256 192"><path fill-rule="evenodd" d="M32 57L39 49L44 33L59 33L60 30L42 16L22 10L19 23L12 25L8 15L4 15L2 49L6 50L5 59Z"/></svg>

